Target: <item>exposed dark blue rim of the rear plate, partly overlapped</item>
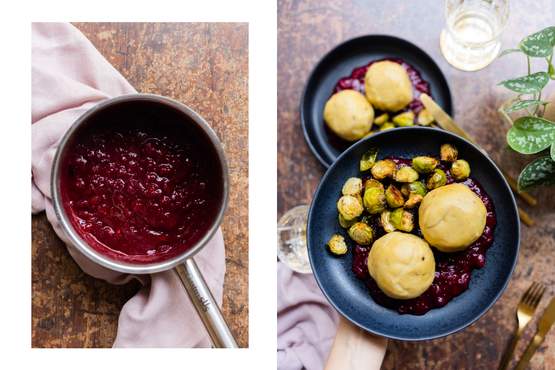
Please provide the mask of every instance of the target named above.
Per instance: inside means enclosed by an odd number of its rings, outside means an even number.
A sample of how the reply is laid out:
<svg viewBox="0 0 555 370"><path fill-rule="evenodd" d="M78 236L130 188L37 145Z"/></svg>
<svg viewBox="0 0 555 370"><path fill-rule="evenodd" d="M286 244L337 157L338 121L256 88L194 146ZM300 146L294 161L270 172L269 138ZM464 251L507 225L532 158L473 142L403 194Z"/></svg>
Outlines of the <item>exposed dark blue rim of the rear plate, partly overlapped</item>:
<svg viewBox="0 0 555 370"><path fill-rule="evenodd" d="M332 134L324 124L324 105L335 84L340 78L350 75L354 68L382 58L401 58L415 67L430 83L432 98L453 116L447 81L433 59L418 46L386 35L367 35L345 41L318 62L301 98L304 137L324 167L329 167L339 154L352 145Z"/></svg>

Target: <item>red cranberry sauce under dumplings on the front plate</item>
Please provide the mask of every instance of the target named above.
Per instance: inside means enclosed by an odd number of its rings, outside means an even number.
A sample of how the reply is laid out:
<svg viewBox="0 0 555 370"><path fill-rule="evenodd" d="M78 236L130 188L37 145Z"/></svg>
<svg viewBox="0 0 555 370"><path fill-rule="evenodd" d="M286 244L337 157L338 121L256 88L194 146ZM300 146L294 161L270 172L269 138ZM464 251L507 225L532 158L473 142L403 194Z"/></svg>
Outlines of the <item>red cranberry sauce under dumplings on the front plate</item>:
<svg viewBox="0 0 555 370"><path fill-rule="evenodd" d="M410 160L404 158L391 159L398 166L410 165ZM447 182L453 183L454 180L449 173L448 167L442 163L440 168L447 174ZM353 273L359 279L364 280L370 295L378 304L395 309L401 314L423 315L433 308L445 306L451 299L468 289L472 270L484 267L486 252L493 243L493 233L496 224L493 202L475 180L469 178L463 184L467 185L486 206L486 227L478 240L462 252L443 253L432 248L436 261L435 278L430 288L421 296L408 300L399 300L385 295L368 273L367 259L371 247L356 245L353 248ZM413 234L422 237L422 232L418 226L418 212L414 212L414 219L415 230ZM376 238L379 238L384 234L384 231L378 225L378 218L374 217L371 222L374 223L372 225L374 230L378 231Z"/></svg>

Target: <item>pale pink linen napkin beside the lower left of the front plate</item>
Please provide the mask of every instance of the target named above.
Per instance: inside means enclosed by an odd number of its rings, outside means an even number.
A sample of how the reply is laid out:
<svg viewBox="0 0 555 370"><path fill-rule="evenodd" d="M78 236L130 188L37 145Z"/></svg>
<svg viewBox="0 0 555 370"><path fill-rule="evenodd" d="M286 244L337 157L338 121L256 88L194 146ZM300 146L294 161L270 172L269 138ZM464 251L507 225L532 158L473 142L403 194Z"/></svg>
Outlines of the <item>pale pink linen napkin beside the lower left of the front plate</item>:
<svg viewBox="0 0 555 370"><path fill-rule="evenodd" d="M328 303L312 274L299 274L278 262L277 345L279 370L322 370L339 315ZM365 349L365 366L379 369L386 342Z"/></svg>

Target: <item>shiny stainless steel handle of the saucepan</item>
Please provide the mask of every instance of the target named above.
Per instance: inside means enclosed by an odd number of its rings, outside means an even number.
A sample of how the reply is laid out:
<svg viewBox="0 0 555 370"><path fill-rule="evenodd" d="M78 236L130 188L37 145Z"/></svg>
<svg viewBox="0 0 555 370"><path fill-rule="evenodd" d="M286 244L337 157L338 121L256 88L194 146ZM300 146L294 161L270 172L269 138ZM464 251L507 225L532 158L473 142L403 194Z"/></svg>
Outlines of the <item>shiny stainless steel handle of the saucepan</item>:
<svg viewBox="0 0 555 370"><path fill-rule="evenodd" d="M189 258L184 263L177 265L175 271L189 294L213 346L216 348L237 348L237 342L235 342L222 312L218 308L195 261Z"/></svg>

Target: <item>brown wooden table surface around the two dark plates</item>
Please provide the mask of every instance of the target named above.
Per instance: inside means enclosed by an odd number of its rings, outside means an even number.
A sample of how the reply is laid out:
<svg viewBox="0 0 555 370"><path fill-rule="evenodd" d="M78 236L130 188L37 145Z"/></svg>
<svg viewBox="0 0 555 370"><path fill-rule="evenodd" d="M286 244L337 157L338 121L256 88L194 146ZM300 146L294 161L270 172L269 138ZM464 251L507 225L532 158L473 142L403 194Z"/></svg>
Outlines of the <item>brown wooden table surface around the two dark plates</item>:
<svg viewBox="0 0 555 370"><path fill-rule="evenodd" d="M525 60L504 57L484 70L461 72L443 59L439 32L444 25L443 1L437 0L279 0L278 1L278 216L309 203L324 168L315 159L300 126L299 101L308 74L338 43L365 34L391 34L420 46L447 77L458 122L478 139L511 174L529 161L507 149L507 126L496 108L509 94L496 84L526 73ZM511 15L503 34L505 48L525 35L552 25L551 0L511 1ZM542 66L543 67L543 66ZM302 179L300 181L299 179ZM494 369L515 325L514 310L532 281L548 286L539 311L555 295L555 197L553 188L533 192L539 205L524 207L536 226L522 226L519 263L507 291L477 323L447 338L420 343L390 341L383 369ZM521 203L522 204L522 203ZM536 326L532 322L524 339ZM518 355L525 343L518 348ZM555 329L531 362L531 369L555 369Z"/></svg>

